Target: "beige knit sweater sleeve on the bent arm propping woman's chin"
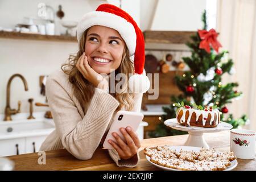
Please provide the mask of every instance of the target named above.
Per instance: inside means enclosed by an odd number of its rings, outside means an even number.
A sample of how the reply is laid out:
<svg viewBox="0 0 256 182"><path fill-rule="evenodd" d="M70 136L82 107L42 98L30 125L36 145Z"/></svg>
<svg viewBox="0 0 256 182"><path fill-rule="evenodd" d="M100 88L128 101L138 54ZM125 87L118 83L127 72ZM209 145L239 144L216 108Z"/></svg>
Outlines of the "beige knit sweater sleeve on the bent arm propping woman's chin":
<svg viewBox="0 0 256 182"><path fill-rule="evenodd" d="M53 120L61 142L77 159L87 160L92 155L108 127L119 102L101 89L94 92L88 110L81 117L71 96L66 92L67 83L49 76L46 94Z"/></svg>

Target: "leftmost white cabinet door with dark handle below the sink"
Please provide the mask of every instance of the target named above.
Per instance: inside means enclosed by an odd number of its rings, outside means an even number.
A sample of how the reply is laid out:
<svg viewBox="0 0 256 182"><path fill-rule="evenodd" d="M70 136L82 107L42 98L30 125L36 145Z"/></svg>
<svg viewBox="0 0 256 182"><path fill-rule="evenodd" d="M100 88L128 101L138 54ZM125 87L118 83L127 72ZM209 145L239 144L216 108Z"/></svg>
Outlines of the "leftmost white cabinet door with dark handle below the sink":
<svg viewBox="0 0 256 182"><path fill-rule="evenodd" d="M0 156L18 155L25 153L25 138L5 139L0 141Z"/></svg>

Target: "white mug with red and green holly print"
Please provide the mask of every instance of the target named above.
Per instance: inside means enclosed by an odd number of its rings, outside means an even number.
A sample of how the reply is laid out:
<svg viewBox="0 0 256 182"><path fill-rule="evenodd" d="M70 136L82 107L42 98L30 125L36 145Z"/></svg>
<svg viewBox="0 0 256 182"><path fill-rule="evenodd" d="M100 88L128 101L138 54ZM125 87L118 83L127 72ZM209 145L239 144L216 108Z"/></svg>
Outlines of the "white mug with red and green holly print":
<svg viewBox="0 0 256 182"><path fill-rule="evenodd" d="M237 158L255 158L255 131L252 130L230 130L230 151L234 152Z"/></svg>

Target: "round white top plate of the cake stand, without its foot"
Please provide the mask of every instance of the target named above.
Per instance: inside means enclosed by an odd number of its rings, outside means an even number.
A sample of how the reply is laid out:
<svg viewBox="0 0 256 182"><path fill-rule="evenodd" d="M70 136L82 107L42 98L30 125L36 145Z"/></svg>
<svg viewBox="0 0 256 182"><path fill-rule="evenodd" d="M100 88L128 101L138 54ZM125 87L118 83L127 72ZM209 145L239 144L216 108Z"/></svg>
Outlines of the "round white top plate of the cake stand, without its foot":
<svg viewBox="0 0 256 182"><path fill-rule="evenodd" d="M226 122L220 122L217 127L212 127L212 128L204 128L204 127L197 127L197 126L183 126L179 122L177 122L176 118L173 119L167 119L164 121L164 125L172 127L177 130L182 130L182 131L203 131L203 132L218 132L218 131L224 131L224 130L230 130L232 129L232 125Z"/></svg>

